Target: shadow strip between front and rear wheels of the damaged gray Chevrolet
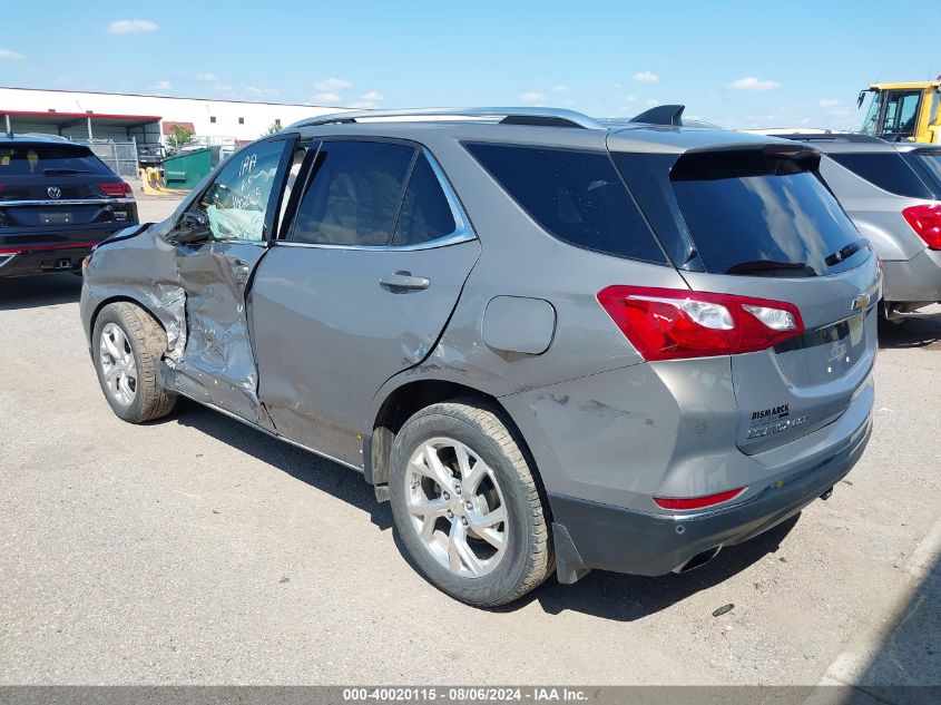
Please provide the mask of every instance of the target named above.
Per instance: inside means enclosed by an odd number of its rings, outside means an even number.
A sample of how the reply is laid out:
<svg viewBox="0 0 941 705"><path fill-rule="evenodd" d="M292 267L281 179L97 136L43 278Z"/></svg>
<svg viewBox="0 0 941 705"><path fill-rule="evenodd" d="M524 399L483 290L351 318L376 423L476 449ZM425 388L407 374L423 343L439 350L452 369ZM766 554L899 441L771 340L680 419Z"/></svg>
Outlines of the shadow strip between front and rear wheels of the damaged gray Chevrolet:
<svg viewBox="0 0 941 705"><path fill-rule="evenodd" d="M361 509L370 515L372 522L381 530L392 527L389 505L378 502L372 486L351 468L291 445L187 399L177 402L177 410L169 420L212 435L226 445L237 448L292 478Z"/></svg>

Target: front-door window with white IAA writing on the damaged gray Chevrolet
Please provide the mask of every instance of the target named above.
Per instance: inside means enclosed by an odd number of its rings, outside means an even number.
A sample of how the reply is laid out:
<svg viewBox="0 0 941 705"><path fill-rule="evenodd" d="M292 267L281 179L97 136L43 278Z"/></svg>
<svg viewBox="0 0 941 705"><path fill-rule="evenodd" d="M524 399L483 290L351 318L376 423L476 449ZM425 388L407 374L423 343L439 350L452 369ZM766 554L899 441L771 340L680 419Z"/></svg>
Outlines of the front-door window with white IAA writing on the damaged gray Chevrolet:
<svg viewBox="0 0 941 705"><path fill-rule="evenodd" d="M215 239L262 241L283 140L247 147L228 160L199 198Z"/></svg>

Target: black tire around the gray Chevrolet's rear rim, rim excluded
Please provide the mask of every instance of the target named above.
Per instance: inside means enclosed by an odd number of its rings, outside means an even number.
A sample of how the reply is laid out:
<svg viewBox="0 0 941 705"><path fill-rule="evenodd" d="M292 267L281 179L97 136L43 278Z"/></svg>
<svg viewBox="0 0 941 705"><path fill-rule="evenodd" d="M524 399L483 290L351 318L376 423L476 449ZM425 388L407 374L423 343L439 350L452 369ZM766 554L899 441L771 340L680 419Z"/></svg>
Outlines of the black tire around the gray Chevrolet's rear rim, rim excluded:
<svg viewBox="0 0 941 705"><path fill-rule="evenodd" d="M396 531L418 570L438 589L477 607L497 607L537 588L551 572L549 517L535 468L521 440L497 410L477 399L422 409L402 427L392 447L389 492ZM410 459L425 441L447 437L470 448L493 471L507 510L509 540L497 567L481 577L454 575L425 548L412 525L405 489Z"/></svg>

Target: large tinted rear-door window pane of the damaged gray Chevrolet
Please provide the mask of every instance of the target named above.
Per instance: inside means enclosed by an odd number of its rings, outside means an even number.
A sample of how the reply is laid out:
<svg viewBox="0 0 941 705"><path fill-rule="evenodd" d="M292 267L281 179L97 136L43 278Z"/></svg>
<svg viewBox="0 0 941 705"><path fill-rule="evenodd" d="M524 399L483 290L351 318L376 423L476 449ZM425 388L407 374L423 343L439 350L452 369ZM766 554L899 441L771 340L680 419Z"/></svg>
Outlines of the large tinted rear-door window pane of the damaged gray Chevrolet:
<svg viewBox="0 0 941 705"><path fill-rule="evenodd" d="M388 143L323 143L291 239L389 244L414 153L412 147Z"/></svg>

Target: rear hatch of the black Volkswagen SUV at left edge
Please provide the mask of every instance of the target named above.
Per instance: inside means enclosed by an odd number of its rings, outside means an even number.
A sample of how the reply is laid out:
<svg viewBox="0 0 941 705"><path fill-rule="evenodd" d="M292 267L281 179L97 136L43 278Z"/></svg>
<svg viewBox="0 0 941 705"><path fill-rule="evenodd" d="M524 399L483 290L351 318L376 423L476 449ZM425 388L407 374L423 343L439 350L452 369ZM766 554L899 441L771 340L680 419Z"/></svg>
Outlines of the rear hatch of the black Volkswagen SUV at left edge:
<svg viewBox="0 0 941 705"><path fill-rule="evenodd" d="M0 234L126 225L137 219L130 196L88 147L0 144Z"/></svg>

